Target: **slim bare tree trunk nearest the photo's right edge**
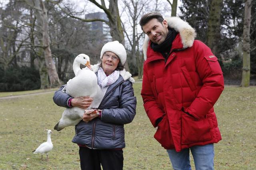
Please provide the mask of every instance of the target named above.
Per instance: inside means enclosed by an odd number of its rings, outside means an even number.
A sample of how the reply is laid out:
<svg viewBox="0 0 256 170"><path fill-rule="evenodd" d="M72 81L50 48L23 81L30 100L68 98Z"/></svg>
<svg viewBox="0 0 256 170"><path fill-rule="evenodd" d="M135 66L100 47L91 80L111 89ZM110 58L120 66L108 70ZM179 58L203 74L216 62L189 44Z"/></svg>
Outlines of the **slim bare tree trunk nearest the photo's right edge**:
<svg viewBox="0 0 256 170"><path fill-rule="evenodd" d="M242 87L250 86L250 26L251 26L252 0L246 0L244 6L244 30L243 30L243 68Z"/></svg>

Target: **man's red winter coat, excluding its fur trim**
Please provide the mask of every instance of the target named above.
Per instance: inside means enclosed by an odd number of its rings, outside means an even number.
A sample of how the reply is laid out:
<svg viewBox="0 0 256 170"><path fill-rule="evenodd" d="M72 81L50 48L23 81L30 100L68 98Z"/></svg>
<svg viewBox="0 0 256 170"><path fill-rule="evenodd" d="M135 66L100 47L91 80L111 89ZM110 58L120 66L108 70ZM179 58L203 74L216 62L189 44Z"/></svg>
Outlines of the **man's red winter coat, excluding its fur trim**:
<svg viewBox="0 0 256 170"><path fill-rule="evenodd" d="M224 89L224 79L217 58L198 40L184 49L180 33L166 63L150 43L141 95L152 125L156 127L156 120L163 118L154 138L165 149L178 152L220 141L213 106Z"/></svg>

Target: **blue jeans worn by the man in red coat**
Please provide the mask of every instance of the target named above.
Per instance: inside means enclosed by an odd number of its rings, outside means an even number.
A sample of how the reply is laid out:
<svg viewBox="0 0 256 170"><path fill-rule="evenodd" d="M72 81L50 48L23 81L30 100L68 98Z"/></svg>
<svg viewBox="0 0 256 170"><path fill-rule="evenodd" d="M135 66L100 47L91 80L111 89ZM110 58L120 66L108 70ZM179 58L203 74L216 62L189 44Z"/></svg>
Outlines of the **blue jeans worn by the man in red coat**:
<svg viewBox="0 0 256 170"><path fill-rule="evenodd" d="M174 170L191 170L189 150L193 155L196 170L214 170L213 144L194 146L182 149L180 152L176 152L175 149L167 149Z"/></svg>

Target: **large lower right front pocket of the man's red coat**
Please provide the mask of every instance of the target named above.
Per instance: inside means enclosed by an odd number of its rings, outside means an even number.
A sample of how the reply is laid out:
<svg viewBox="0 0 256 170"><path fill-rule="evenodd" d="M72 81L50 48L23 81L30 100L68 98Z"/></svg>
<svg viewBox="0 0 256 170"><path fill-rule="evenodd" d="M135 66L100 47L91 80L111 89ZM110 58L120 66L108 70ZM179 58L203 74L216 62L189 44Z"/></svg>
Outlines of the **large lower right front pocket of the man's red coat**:
<svg viewBox="0 0 256 170"><path fill-rule="evenodd" d="M212 139L210 124L207 118L196 119L182 112L181 143L190 144Z"/></svg>

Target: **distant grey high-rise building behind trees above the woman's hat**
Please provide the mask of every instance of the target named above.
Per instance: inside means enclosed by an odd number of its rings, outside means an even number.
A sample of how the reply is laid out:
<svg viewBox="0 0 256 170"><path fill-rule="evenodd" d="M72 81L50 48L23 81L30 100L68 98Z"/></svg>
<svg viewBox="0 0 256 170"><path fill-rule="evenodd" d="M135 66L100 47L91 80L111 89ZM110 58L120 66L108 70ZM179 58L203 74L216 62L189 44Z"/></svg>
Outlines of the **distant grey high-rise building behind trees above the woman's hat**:
<svg viewBox="0 0 256 170"><path fill-rule="evenodd" d="M90 13L85 15L85 19L94 19L94 18L108 21L108 17L104 12L95 12L95 13ZM106 23L101 21L94 21L94 22L88 22L88 25L91 25L90 29L98 30L103 35L105 35L106 41L112 41L112 36L110 35L110 27Z"/></svg>

